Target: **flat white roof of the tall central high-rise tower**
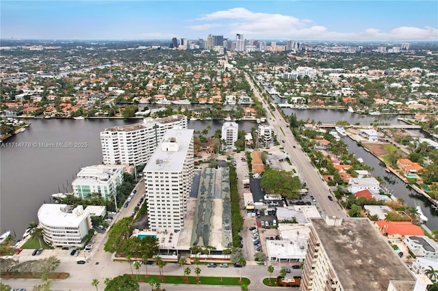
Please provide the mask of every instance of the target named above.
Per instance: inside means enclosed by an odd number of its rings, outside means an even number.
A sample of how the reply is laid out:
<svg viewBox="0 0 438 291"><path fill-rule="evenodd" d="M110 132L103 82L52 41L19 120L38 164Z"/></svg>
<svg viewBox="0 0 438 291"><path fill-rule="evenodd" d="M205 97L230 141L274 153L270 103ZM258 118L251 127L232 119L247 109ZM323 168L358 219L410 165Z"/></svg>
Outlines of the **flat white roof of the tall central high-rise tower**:
<svg viewBox="0 0 438 291"><path fill-rule="evenodd" d="M144 167L146 172L180 172L193 139L193 129L169 129Z"/></svg>

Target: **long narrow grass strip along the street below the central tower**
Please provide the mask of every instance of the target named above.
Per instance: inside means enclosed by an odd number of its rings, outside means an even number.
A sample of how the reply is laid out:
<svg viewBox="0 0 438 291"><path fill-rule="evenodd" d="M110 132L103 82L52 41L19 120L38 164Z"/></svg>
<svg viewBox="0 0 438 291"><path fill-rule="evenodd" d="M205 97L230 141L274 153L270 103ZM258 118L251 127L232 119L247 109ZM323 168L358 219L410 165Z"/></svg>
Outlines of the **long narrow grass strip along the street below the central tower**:
<svg viewBox="0 0 438 291"><path fill-rule="evenodd" d="M136 275L131 275L134 279L137 278ZM185 276L166 276L164 275L164 283L170 284L198 284L198 281L201 281L203 285L225 285L225 286L240 286L242 284L246 284L247 286L251 283L250 279L246 277L242 277L242 282L239 282L240 277L199 277L198 278L193 275L190 275L188 279L185 279ZM146 275L139 275L138 281L143 281L145 283L149 281L157 281L162 282L161 277L157 275L149 275L146 278Z"/></svg>

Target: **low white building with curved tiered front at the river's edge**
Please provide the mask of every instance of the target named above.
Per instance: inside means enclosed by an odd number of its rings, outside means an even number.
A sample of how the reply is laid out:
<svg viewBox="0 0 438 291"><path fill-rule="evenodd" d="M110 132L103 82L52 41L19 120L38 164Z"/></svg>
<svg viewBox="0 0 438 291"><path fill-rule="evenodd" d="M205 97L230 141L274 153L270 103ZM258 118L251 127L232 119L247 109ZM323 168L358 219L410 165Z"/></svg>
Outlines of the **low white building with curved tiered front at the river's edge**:
<svg viewBox="0 0 438 291"><path fill-rule="evenodd" d="M90 213L81 205L71 210L66 204L42 204L38 221L44 241L52 247L82 247L82 238L92 228Z"/></svg>

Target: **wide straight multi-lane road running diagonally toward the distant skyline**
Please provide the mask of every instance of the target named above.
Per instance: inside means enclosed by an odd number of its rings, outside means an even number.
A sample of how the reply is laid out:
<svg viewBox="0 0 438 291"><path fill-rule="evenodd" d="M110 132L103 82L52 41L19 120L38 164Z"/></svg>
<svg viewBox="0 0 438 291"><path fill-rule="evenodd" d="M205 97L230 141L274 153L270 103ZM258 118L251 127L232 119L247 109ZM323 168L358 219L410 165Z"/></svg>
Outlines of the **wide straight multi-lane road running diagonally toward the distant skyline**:
<svg viewBox="0 0 438 291"><path fill-rule="evenodd" d="M298 169L298 176L300 180L306 182L307 188L309 188L309 195L313 195L316 200L316 206L320 211L320 214L325 217L329 215L331 217L346 218L346 212L337 203L335 195L333 195L320 173L311 164L310 158L301 149L300 144L295 140L292 135L289 124L285 122L281 113L278 110L270 111L270 106L266 100L263 99L261 93L255 87L253 80L245 72L246 81L250 84L251 89L255 94L255 97L263 104L266 109L266 115L270 126L274 128L274 133L277 140L282 143L285 148L285 152L289 153L290 161L296 165ZM284 143L283 143L284 141ZM333 201L329 200L329 195L333 197Z"/></svg>

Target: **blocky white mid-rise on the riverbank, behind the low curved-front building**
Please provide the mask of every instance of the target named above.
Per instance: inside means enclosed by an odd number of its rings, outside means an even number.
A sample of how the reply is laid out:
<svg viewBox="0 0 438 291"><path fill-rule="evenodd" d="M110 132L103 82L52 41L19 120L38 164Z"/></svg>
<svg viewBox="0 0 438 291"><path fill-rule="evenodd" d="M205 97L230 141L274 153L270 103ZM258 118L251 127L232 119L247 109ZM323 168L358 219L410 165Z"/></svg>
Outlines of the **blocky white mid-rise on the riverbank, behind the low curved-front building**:
<svg viewBox="0 0 438 291"><path fill-rule="evenodd" d="M123 183L123 167L97 165L83 167L71 183L73 194L81 199L90 199L91 193L99 193L103 199L112 199L117 186Z"/></svg>

